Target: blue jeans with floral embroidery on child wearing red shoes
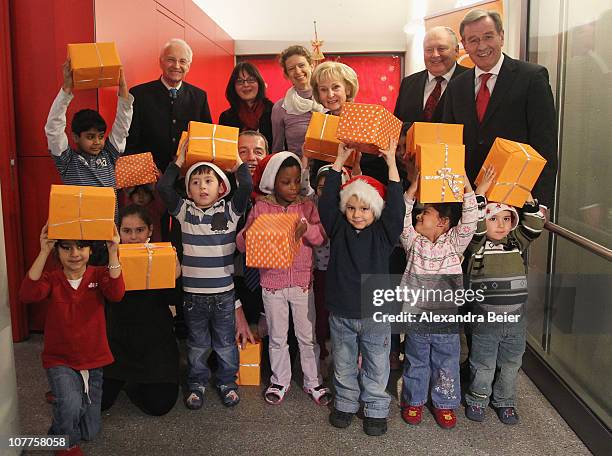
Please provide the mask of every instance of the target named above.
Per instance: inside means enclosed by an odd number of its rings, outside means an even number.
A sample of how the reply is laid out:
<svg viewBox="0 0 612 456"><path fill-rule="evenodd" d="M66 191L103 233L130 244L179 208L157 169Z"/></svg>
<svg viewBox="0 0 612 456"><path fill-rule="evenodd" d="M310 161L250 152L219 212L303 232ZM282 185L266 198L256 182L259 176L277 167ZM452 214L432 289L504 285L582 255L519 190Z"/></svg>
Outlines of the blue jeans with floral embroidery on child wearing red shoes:
<svg viewBox="0 0 612 456"><path fill-rule="evenodd" d="M461 401L459 334L406 334L402 404L431 402L439 409L455 409Z"/></svg>

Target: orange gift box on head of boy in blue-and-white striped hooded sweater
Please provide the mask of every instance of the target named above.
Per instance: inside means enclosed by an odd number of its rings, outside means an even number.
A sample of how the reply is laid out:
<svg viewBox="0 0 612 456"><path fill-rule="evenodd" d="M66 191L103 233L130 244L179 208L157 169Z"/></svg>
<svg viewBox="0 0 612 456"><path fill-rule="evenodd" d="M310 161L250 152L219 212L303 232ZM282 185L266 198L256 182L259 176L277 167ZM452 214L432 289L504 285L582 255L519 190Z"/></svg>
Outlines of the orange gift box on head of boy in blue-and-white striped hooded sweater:
<svg viewBox="0 0 612 456"><path fill-rule="evenodd" d="M224 171L231 170L238 160L239 132L240 130L235 127L189 122L189 146L185 157L185 169L189 169L199 161L207 161Z"/></svg>

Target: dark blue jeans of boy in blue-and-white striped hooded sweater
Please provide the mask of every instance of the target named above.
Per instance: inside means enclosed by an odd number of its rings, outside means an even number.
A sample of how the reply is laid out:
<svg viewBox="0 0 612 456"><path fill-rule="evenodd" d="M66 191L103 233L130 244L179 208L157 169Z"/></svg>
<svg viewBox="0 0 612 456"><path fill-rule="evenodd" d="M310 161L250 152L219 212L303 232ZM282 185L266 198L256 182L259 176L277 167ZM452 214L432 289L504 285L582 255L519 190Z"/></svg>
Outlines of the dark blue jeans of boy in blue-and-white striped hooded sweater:
<svg viewBox="0 0 612 456"><path fill-rule="evenodd" d="M185 293L183 314L187 325L187 359L189 391L208 386L210 369L206 361L211 348L217 353L217 385L236 388L238 346L234 290L218 294Z"/></svg>

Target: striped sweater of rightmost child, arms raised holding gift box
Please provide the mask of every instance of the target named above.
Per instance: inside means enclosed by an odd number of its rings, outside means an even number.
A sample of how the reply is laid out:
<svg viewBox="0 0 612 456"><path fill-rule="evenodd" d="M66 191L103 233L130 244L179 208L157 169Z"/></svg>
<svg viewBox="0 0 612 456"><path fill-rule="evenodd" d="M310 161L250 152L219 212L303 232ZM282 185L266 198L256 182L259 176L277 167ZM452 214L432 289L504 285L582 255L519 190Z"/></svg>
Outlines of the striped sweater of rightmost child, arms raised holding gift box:
<svg viewBox="0 0 612 456"><path fill-rule="evenodd" d="M523 254L542 232L546 219L537 204L525 204L519 214L518 226L501 241L486 237L484 214L479 217L467 249L471 255L466 269L470 288L484 295L482 303L474 303L477 312L516 312L527 302Z"/></svg>

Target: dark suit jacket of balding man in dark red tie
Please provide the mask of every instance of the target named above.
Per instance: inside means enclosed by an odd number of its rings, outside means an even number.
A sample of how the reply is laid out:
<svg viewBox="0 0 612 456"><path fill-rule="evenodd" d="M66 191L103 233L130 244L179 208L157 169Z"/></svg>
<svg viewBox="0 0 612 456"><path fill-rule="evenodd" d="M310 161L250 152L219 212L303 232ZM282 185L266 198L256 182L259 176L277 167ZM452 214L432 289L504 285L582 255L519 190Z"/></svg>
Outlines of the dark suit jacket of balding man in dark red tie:
<svg viewBox="0 0 612 456"><path fill-rule="evenodd" d="M455 65L455 71L451 76L451 81L467 68L461 65ZM423 117L423 92L425 91L425 84L427 83L427 70L413 73L402 79L402 85L400 86L400 92L395 102L395 117L399 118L404 123L413 122L425 122ZM450 81L449 81L450 83ZM447 86L448 88L448 86ZM431 122L441 122L442 114L444 113L444 96L446 90L442 93L440 100L434 110Z"/></svg>

